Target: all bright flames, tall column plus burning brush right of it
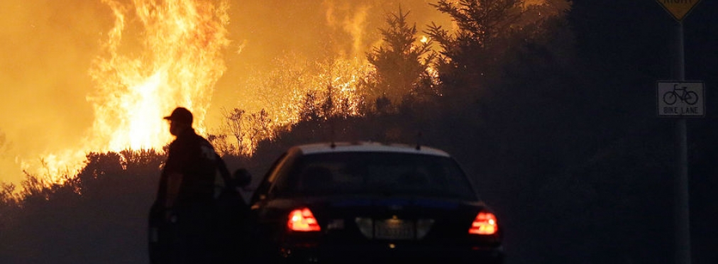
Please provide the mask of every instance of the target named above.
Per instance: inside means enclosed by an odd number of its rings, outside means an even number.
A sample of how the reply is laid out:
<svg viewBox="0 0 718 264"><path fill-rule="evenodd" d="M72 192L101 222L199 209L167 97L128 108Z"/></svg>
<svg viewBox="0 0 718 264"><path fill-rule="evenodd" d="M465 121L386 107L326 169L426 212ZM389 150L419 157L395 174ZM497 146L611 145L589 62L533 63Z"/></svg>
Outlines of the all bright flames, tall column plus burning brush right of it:
<svg viewBox="0 0 718 264"><path fill-rule="evenodd" d="M40 164L21 161L22 169L34 175L62 180L57 175L72 175L82 169L88 152L161 149L172 139L162 116L177 106L192 110L199 133L206 135L208 131L205 119L210 99L226 70L223 51L230 45L229 0L100 1L109 7L114 21L103 34L101 53L89 70L95 85L87 96L95 115L93 124L76 147L45 152L40 155ZM325 27L318 27L321 34L316 35L339 36L323 39L326 49L322 52L331 54L288 58L290 65L300 66L276 67L278 72L258 75L266 78L236 89L251 94L242 98L253 100L221 106L247 110L248 116L266 109L271 129L297 123L309 94L317 96L315 108L322 108L321 103L327 102L322 97L330 96L331 109L320 118L361 115L366 102L376 96L362 87L373 70L364 55L371 45L381 44L381 36L367 29L378 27L384 16L372 11L377 8L373 2L351 3L317 4L325 9L323 18L317 20L323 19ZM244 50L247 43L245 40L238 45L238 50ZM246 50L251 53L259 49ZM294 72L290 70L294 68ZM262 139L266 138L252 137L251 141ZM251 154L255 143L249 142L243 154Z"/></svg>

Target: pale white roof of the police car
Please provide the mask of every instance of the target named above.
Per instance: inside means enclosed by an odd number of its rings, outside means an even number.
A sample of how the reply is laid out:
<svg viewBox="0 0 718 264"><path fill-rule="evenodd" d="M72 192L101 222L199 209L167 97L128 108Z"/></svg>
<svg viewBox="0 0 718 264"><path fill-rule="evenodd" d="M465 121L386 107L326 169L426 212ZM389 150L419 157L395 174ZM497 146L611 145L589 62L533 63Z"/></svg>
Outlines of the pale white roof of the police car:
<svg viewBox="0 0 718 264"><path fill-rule="evenodd" d="M310 143L294 146L302 154L324 154L337 152L386 152L424 154L449 157L447 152L428 146L409 146L401 143L378 143L369 141L337 142L337 143Z"/></svg>

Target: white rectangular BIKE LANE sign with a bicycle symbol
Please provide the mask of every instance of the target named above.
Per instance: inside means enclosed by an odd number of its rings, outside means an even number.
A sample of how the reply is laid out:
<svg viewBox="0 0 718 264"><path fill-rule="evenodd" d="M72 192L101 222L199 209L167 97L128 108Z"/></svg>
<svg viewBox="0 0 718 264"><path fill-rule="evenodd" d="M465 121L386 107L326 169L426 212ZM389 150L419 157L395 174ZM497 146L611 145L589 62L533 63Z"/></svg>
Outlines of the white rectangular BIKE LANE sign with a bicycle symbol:
<svg viewBox="0 0 718 264"><path fill-rule="evenodd" d="M705 115L703 82L660 81L656 99L658 116L702 117Z"/></svg>

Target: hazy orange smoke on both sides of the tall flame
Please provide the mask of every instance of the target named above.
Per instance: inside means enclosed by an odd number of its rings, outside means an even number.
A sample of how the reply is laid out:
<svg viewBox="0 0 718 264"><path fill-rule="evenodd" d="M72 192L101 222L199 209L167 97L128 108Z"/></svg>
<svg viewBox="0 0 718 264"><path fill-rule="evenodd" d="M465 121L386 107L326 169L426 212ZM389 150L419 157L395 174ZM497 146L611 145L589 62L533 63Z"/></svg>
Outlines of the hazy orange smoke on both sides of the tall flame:
<svg viewBox="0 0 718 264"><path fill-rule="evenodd" d="M115 16L107 1L4 0L0 2L0 181L19 183L27 169L67 155L82 156L93 140L98 84L90 76L102 55ZM130 4L130 1L124 1ZM262 108L261 94L248 87L253 72L274 70L277 58L299 55L305 62L358 58L381 42L379 27L399 6L421 30L437 22L450 27L434 1L325 0L231 1L226 70L212 90L202 126L223 123L222 109ZM129 21L129 25L139 24ZM134 33L133 33L134 32ZM139 57L131 47L142 42L131 31L119 53ZM131 42L137 42L133 44ZM169 72L172 74L172 72ZM157 116L162 118L162 116ZM62 168L62 166L60 166ZM68 167L68 170L70 168ZM47 174L52 174L47 171ZM56 172L55 172L56 173ZM50 176L50 175L39 175Z"/></svg>

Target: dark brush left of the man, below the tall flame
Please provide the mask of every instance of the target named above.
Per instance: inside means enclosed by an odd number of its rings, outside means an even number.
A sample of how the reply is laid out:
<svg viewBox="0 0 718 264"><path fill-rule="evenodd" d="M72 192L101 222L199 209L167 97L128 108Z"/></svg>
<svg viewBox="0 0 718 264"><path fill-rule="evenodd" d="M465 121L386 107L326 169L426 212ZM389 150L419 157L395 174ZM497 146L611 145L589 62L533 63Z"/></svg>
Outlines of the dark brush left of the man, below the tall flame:
<svg viewBox="0 0 718 264"><path fill-rule="evenodd" d="M27 175L21 196L4 184L3 263L146 263L146 221L154 201L157 151L88 154L64 184Z"/></svg>

